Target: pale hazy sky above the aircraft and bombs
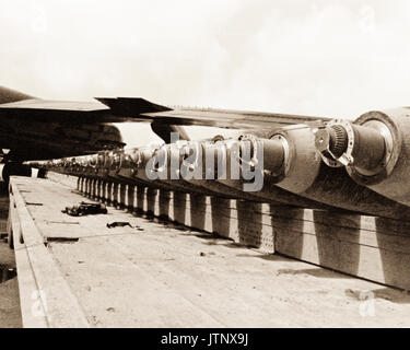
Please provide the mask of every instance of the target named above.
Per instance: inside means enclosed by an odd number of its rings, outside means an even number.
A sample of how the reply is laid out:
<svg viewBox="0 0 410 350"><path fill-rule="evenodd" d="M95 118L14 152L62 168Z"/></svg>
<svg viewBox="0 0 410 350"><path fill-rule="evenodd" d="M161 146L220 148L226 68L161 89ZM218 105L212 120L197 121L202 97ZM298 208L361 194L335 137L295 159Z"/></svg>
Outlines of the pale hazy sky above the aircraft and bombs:
<svg viewBox="0 0 410 350"><path fill-rule="evenodd" d="M358 117L410 105L410 1L0 0L0 85Z"/></svg>

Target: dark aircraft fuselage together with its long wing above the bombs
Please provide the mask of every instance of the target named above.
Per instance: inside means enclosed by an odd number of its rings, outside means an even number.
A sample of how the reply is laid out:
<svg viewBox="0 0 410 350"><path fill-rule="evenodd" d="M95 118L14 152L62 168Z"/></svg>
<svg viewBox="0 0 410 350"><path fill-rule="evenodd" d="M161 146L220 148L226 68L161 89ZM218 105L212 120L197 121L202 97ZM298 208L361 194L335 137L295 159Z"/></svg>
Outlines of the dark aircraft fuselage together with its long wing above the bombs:
<svg viewBox="0 0 410 350"><path fill-rule="evenodd" d="M11 150L9 159L35 160L89 154L122 148L115 122L148 121L167 141L179 126L212 126L231 129L270 130L278 126L328 120L327 118L167 107L144 98L98 97L92 102L36 98L0 86L0 149ZM136 137L138 137L136 135Z"/></svg>

